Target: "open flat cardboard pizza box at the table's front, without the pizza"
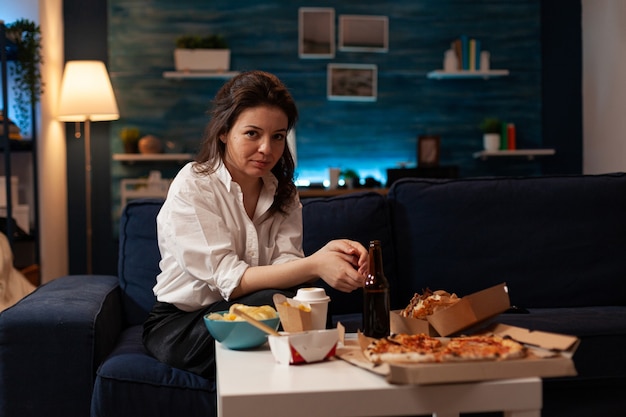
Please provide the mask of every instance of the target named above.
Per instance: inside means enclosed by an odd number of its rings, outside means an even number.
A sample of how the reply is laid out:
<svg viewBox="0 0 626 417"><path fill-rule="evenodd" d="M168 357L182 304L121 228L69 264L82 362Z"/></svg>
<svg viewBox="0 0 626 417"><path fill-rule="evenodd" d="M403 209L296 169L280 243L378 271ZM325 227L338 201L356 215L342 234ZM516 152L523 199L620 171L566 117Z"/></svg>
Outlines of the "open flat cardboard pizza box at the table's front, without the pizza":
<svg viewBox="0 0 626 417"><path fill-rule="evenodd" d="M367 360L363 354L363 349L371 339L359 333L358 340L346 340L338 348L337 356L385 377L391 384L427 385L576 375L572 357L579 340L574 336L530 331L504 324L494 324L484 333L512 337L526 345L528 355L525 358L501 361L377 365Z"/></svg>

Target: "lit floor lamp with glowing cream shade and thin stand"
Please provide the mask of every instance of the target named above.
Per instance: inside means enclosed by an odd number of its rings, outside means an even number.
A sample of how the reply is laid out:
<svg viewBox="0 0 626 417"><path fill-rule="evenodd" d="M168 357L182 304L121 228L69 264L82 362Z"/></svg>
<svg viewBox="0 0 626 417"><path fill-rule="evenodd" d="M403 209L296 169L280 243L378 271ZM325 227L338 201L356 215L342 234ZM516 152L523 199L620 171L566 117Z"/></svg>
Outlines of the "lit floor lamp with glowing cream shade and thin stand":
<svg viewBox="0 0 626 417"><path fill-rule="evenodd" d="M111 80L101 61L68 61L63 71L57 118L76 122L75 136L80 138L80 122L85 122L85 223L87 228L87 274L93 272L91 221L91 122L119 119Z"/></svg>

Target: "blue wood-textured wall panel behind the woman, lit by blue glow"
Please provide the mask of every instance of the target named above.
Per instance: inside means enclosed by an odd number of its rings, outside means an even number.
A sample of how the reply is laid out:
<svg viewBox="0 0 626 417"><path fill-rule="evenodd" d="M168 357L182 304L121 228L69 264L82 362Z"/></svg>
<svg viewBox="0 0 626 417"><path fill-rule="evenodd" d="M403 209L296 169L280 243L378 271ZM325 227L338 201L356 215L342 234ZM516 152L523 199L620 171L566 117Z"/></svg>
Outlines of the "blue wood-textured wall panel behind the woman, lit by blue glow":
<svg viewBox="0 0 626 417"><path fill-rule="evenodd" d="M276 73L301 112L296 127L298 175L321 181L329 166L353 168L385 181L386 169L416 163L416 137L439 134L441 164L458 165L461 176L537 175L541 162L472 157L482 148L478 124L498 116L517 127L518 146L542 142L541 5L539 0L361 1L110 0L109 69L122 118L111 129L112 152L121 152L119 130L137 125L146 133L193 152L207 122L209 101L224 80L164 79L173 70L174 40L185 33L221 33L232 50L233 70ZM337 51L333 59L300 59L298 8L334 7L342 14L389 18L389 51ZM338 32L338 27L337 27ZM480 39L492 68L509 77L431 80L443 53L460 34ZM378 100L328 101L328 63L376 64ZM147 174L150 167L113 162L116 180ZM173 175L174 167L165 175Z"/></svg>

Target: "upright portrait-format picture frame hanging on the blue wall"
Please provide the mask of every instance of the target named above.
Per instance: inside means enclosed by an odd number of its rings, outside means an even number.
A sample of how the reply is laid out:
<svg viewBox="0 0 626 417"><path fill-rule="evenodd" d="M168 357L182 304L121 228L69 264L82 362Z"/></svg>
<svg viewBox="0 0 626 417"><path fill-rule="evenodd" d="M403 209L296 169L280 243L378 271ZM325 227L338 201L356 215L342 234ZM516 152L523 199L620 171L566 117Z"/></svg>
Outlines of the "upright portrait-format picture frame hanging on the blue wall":
<svg viewBox="0 0 626 417"><path fill-rule="evenodd" d="M335 9L298 9L298 54L300 58L335 57Z"/></svg>

